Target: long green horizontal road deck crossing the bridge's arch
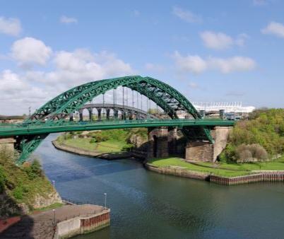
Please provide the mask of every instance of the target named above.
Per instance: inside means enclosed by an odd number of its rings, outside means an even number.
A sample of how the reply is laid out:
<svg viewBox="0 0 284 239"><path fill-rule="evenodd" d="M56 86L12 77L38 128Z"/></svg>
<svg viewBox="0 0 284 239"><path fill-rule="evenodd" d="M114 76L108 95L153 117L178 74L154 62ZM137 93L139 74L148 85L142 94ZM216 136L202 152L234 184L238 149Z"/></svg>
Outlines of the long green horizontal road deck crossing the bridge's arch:
<svg viewBox="0 0 284 239"><path fill-rule="evenodd" d="M42 122L38 124L11 124L1 126L0 137L50 134L101 129L152 128L152 127L215 127L233 126L234 121L223 119L133 119L101 122Z"/></svg>

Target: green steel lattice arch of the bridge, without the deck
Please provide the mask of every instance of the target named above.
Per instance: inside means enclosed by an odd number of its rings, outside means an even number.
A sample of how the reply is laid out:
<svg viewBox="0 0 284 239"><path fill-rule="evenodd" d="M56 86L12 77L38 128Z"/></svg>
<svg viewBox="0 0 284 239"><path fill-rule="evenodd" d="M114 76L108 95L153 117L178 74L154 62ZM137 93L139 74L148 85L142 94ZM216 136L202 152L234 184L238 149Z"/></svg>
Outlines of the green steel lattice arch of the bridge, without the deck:
<svg viewBox="0 0 284 239"><path fill-rule="evenodd" d="M178 119L177 111L183 110L194 119L201 119L201 115L194 106L187 100L182 93L155 78L142 76L124 76L119 78L109 78L101 81L85 83L81 86L71 88L69 91L61 93L57 97L49 100L36 110L25 123L37 124L42 122L60 122L76 110L80 110L85 103L98 95L105 94L107 91L116 89L119 86L131 88L145 95L148 99L155 102L172 119ZM184 127L183 132L186 136L195 139L206 139L213 142L210 129L203 127ZM23 136L18 138L16 148L21 152L19 161L23 162L37 148L40 142L48 134L36 136Z"/></svg>

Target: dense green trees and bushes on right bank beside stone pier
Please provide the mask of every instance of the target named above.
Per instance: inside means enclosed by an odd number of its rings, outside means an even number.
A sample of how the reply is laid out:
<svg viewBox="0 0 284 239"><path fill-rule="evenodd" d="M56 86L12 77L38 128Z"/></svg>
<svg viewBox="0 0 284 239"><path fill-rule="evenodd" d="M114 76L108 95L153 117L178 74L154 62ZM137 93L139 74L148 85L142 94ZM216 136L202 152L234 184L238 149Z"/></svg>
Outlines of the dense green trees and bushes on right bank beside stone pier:
<svg viewBox="0 0 284 239"><path fill-rule="evenodd" d="M230 134L229 144L220 155L220 160L237 161L254 158L256 154L258 159L263 160L265 157L273 158L283 153L284 109L261 109L252 112L249 120L239 121L235 125Z"/></svg>

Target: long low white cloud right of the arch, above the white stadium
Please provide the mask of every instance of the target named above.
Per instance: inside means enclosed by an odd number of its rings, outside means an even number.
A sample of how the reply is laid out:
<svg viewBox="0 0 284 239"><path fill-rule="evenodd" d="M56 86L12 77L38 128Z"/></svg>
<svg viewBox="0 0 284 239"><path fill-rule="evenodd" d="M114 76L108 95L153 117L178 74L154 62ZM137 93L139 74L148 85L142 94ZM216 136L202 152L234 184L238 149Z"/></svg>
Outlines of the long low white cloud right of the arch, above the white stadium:
<svg viewBox="0 0 284 239"><path fill-rule="evenodd" d="M256 62L249 57L208 57L203 59L198 55L182 56L179 52L174 52L173 58L179 71L194 74L208 70L217 70L227 74L235 71L249 71L256 67Z"/></svg>

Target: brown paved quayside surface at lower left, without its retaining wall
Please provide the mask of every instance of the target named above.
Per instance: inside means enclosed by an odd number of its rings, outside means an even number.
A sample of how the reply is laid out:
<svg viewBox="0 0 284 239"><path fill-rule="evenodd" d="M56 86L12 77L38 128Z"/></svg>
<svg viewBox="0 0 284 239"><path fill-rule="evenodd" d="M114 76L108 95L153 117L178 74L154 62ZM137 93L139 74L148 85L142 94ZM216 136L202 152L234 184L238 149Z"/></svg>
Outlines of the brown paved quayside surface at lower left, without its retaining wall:
<svg viewBox="0 0 284 239"><path fill-rule="evenodd" d="M56 223L76 216L88 216L99 213L104 208L96 205L65 205L54 211L42 211L23 216L18 223L0 234L0 238L35 238L52 239Z"/></svg>

